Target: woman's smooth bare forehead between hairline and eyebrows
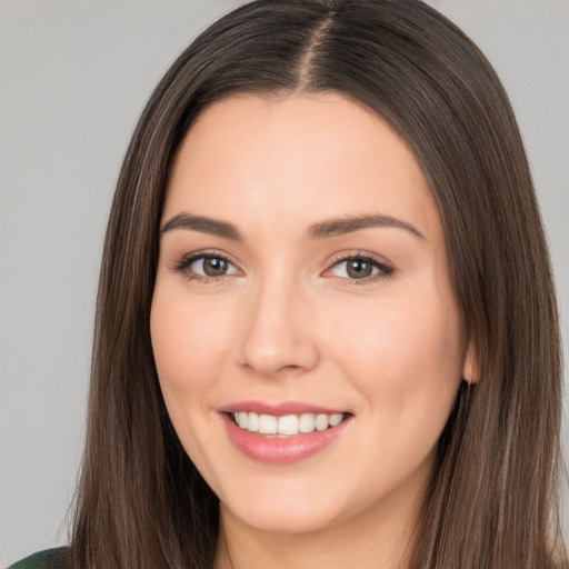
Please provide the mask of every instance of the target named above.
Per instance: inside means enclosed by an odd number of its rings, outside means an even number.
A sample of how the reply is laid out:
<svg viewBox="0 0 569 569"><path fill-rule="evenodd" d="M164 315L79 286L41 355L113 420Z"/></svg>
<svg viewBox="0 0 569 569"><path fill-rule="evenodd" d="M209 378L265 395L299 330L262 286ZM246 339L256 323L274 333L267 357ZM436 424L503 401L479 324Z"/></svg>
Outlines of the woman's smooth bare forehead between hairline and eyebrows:
<svg viewBox="0 0 569 569"><path fill-rule="evenodd" d="M247 228L380 213L440 231L431 191L388 123L336 93L218 101L174 160L163 218L190 210Z"/></svg>

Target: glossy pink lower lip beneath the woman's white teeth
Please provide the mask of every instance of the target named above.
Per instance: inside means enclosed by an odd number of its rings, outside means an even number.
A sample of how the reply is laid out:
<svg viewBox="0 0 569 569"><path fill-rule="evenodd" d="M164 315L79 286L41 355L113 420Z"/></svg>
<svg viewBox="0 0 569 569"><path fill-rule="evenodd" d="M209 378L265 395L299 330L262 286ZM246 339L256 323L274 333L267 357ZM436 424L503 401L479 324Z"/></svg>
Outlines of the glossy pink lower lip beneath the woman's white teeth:
<svg viewBox="0 0 569 569"><path fill-rule="evenodd" d="M298 462L325 450L341 436L348 422L351 422L351 417L348 417L340 425L323 431L277 438L241 429L229 418L228 413L221 413L221 417L229 439L243 455L260 462L279 465Z"/></svg>

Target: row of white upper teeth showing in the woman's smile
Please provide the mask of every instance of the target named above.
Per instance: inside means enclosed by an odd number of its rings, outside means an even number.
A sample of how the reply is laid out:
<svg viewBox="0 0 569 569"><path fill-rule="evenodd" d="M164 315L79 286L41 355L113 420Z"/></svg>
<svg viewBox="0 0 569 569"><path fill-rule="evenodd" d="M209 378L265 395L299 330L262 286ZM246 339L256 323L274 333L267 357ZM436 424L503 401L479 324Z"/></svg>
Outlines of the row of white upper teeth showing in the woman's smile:
<svg viewBox="0 0 569 569"><path fill-rule="evenodd" d="M234 422L243 430L284 437L293 437L315 430L325 431L330 427L340 425L345 418L343 413L302 413L300 416L284 415L282 417L274 417L272 415L257 415L246 411L234 412L231 416Z"/></svg>

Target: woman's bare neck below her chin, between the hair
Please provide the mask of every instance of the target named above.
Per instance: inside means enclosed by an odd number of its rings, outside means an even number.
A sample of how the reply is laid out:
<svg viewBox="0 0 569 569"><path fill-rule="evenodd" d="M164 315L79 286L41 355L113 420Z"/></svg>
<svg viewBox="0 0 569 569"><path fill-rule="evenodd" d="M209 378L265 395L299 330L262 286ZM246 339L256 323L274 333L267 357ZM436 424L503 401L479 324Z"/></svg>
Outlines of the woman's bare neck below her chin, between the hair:
<svg viewBox="0 0 569 569"><path fill-rule="evenodd" d="M301 533L251 527L221 506L216 569L405 569L422 496L391 497L357 519Z"/></svg>

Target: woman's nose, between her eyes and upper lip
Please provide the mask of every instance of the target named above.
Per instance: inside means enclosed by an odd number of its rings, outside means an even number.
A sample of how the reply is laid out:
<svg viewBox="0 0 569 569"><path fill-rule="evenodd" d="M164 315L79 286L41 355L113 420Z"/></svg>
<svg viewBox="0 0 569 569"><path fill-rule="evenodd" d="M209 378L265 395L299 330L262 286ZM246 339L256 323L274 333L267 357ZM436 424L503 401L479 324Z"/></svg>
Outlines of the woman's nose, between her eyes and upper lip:
<svg viewBox="0 0 569 569"><path fill-rule="evenodd" d="M307 296L286 276L251 290L240 346L241 366L263 378L297 376L313 369L319 351L308 305Z"/></svg>

